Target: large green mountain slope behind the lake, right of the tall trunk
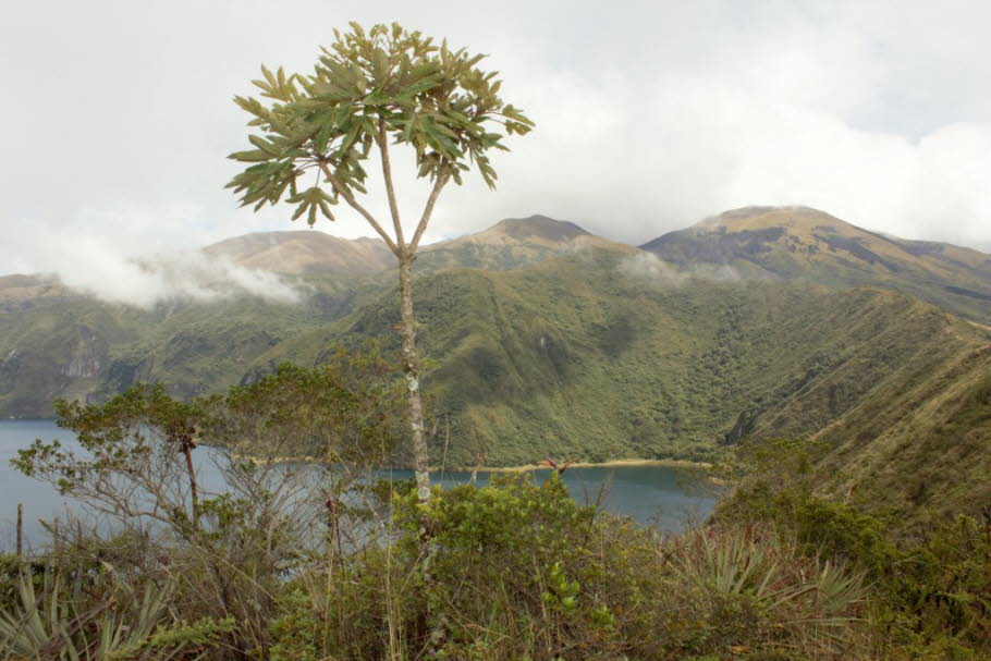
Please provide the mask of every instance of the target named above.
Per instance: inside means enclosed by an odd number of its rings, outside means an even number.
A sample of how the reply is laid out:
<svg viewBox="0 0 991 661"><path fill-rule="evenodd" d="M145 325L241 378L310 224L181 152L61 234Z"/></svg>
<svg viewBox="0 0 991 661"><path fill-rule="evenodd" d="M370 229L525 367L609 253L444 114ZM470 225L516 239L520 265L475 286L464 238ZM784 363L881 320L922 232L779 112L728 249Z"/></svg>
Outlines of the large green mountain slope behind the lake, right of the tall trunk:
<svg viewBox="0 0 991 661"><path fill-rule="evenodd" d="M436 456L706 458L762 433L809 434L905 370L984 341L909 296L787 282L631 274L621 249L417 282L419 345L439 419ZM319 363L329 344L394 343L395 294L264 355ZM935 351L929 347L937 347Z"/></svg>

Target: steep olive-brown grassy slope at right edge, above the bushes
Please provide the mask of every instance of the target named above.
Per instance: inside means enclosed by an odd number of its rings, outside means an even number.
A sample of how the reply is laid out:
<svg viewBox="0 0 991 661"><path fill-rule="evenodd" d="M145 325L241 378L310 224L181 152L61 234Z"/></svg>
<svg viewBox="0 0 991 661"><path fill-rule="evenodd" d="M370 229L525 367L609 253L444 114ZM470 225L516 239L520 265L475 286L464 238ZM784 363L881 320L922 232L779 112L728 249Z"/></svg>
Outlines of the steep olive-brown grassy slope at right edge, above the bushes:
<svg viewBox="0 0 991 661"><path fill-rule="evenodd" d="M818 436L835 446L822 476L834 493L904 521L991 505L991 344L902 378Z"/></svg>

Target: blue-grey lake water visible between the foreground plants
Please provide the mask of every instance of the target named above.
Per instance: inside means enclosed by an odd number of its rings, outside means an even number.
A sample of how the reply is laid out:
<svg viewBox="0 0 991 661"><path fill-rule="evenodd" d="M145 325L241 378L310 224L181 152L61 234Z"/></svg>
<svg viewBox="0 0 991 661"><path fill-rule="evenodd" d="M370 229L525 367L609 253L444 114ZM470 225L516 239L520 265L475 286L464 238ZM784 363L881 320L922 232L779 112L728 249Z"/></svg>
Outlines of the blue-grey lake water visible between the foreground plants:
<svg viewBox="0 0 991 661"><path fill-rule="evenodd" d="M59 439L63 445L72 446L74 434L60 429L54 420L0 420L0 551L14 548L17 503L24 504L24 535L33 543L46 539L38 519L51 519L66 509L78 511L78 503L59 495L47 482L21 475L10 460L17 456L17 450L26 448L35 439L51 441ZM216 486L221 480L218 469L208 460L208 449L197 449L197 467L200 480ZM400 479L412 478L409 470L393 470ZM547 478L549 472L538 470L537 481ZM568 468L564 482L579 503L595 502L603 485L607 487L602 506L614 514L632 517L641 524L650 524L669 531L678 531L687 522L700 521L709 515L715 502L709 494L696 493L683 483L676 469L666 466L615 466L594 468ZM433 480L450 487L470 479L468 473L438 473ZM480 483L488 481L486 474L479 474Z"/></svg>

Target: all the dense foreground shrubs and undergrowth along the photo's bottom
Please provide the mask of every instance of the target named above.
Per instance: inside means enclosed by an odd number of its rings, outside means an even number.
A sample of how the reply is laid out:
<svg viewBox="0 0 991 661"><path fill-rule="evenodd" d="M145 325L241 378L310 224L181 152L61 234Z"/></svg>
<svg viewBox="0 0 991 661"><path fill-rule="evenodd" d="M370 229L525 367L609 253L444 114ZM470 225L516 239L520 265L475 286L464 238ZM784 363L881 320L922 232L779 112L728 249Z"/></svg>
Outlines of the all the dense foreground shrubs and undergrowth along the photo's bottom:
<svg viewBox="0 0 991 661"><path fill-rule="evenodd" d="M926 529L880 519L817 491L828 448L797 440L742 444L717 468L734 489L680 537L579 506L560 479L536 485L525 474L435 488L424 505L412 485L375 479L402 427L389 375L376 355L338 353L329 368L284 367L193 404L140 388L101 406L60 405L93 455L38 443L19 465L69 493L117 499L103 507L117 525L108 537L63 521L41 553L3 556L0 656L991 653L988 516ZM195 472L176 444L176 420L189 419L197 442L256 448L250 462L218 455L232 489L204 489L198 519ZM338 468L280 462L280 439L297 437ZM138 493L155 475L169 488ZM158 523L148 525L149 512Z"/></svg>

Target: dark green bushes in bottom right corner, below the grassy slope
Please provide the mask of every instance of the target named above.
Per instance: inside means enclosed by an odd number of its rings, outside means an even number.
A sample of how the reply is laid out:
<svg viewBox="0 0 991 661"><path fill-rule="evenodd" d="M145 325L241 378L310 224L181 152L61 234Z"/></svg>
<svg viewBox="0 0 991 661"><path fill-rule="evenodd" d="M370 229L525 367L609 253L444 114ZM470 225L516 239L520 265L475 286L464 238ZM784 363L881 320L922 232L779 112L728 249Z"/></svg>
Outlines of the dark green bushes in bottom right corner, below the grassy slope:
<svg viewBox="0 0 991 661"><path fill-rule="evenodd" d="M906 530L815 491L810 448L751 442L717 507L726 525L771 525L809 558L833 558L873 584L873 627L891 658L991 656L991 512Z"/></svg>

